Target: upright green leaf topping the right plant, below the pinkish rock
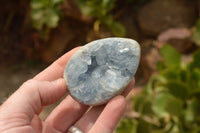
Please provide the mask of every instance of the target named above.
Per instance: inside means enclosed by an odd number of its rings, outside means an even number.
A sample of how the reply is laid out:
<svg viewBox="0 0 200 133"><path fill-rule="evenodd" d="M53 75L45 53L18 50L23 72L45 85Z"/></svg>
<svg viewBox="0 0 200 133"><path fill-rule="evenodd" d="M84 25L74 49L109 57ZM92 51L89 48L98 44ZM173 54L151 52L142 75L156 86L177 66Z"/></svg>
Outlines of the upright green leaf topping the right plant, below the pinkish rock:
<svg viewBox="0 0 200 133"><path fill-rule="evenodd" d="M170 45L164 45L161 50L165 65L168 67L180 67L181 55Z"/></svg>

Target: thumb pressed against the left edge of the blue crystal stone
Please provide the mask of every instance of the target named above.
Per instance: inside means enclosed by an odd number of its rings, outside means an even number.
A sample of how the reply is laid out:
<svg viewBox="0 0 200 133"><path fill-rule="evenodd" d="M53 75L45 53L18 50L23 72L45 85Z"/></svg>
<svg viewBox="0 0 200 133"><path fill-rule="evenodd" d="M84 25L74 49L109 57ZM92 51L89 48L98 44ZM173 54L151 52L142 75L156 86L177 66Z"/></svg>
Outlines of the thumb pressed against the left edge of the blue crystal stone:
<svg viewBox="0 0 200 133"><path fill-rule="evenodd" d="M65 93L64 79L53 82L29 80L5 101L0 114L4 114L3 117L20 114L31 121L42 106L56 102Z"/></svg>

